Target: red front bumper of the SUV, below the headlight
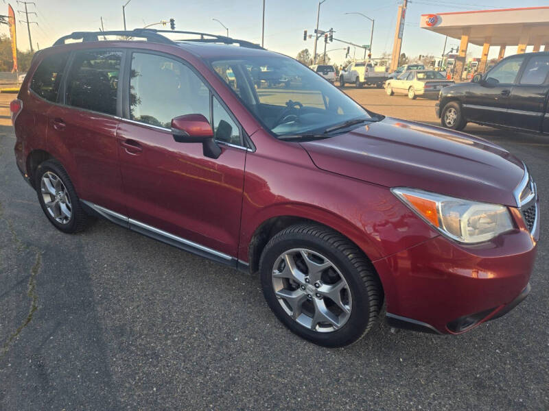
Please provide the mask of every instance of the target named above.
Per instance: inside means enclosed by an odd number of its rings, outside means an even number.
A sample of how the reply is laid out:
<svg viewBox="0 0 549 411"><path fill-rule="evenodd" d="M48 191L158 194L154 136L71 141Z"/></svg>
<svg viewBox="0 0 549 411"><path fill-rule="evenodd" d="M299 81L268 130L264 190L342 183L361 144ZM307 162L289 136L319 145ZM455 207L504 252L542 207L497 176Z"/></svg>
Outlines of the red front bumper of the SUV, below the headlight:
<svg viewBox="0 0 549 411"><path fill-rule="evenodd" d="M537 251L525 227L483 245L438 236L377 260L390 325L460 334L499 318L521 302Z"/></svg>

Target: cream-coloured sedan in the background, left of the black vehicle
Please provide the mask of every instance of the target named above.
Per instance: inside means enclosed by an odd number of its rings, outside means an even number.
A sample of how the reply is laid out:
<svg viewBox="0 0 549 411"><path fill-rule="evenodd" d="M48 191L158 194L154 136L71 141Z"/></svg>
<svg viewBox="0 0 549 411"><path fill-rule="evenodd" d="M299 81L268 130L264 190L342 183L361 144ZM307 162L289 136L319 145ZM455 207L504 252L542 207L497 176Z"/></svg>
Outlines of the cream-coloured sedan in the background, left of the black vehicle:
<svg viewBox="0 0 549 411"><path fill-rule="evenodd" d="M433 97L439 94L443 87L454 84L447 80L439 71L434 70L412 70L405 71L396 79L385 82L387 95L394 95L395 92L407 94L410 99L417 96Z"/></svg>

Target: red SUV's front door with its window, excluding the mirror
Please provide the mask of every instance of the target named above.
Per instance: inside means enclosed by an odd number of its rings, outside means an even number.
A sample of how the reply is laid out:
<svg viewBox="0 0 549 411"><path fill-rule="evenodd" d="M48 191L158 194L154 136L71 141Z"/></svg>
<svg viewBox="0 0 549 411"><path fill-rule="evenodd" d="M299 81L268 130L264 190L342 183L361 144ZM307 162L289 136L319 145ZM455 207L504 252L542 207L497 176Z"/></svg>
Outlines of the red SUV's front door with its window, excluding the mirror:
<svg viewBox="0 0 549 411"><path fill-rule="evenodd" d="M134 52L130 69L117 129L130 227L237 256L246 159L240 126L182 61ZM219 158L205 157L201 143L174 140L170 123L183 114L210 119Z"/></svg>

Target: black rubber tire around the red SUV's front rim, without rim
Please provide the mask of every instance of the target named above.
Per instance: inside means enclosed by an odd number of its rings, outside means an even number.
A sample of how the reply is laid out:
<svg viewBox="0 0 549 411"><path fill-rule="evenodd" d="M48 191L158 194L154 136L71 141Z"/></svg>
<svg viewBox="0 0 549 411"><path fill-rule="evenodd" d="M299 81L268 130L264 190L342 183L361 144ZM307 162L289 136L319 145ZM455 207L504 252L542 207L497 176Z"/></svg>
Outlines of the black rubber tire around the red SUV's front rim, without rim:
<svg viewBox="0 0 549 411"><path fill-rule="evenodd" d="M347 282L352 309L347 322L331 332L317 332L294 321L275 295L272 271L279 256L288 250L305 248L325 256ZM382 286L371 262L338 232L314 223L299 223L283 229L266 245L259 260L259 274L268 306L295 334L324 347L342 347L359 340L377 319L383 302Z"/></svg>

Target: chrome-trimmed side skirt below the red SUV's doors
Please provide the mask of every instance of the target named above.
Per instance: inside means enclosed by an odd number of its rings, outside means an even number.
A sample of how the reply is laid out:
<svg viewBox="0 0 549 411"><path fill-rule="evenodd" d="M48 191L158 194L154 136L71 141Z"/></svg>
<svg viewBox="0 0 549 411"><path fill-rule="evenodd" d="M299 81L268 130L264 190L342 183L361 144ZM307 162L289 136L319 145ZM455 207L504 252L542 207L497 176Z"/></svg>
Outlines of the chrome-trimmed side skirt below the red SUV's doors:
<svg viewBox="0 0 549 411"><path fill-rule="evenodd" d="M80 202L82 203L84 210L90 214L101 216L108 221L121 225L122 227L129 228L132 231L138 232L150 238L154 238L154 240L165 242L166 244L177 247L178 249L183 249L189 253L196 254L197 256L208 258L209 260L213 260L215 262L220 262L221 264L230 266L233 269L239 269L240 271L244 271L246 273L249 272L249 266L247 263L239 261L228 254L205 247L204 245L200 245L196 242L186 240L185 238L174 236L174 234L170 234L161 229L141 223L140 221L130 219L127 216L118 214L117 212L108 210L102 206L97 206L97 204L89 201L80 200Z"/></svg>

